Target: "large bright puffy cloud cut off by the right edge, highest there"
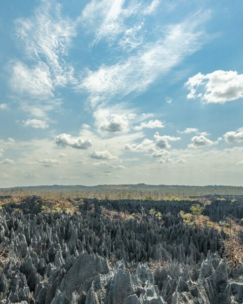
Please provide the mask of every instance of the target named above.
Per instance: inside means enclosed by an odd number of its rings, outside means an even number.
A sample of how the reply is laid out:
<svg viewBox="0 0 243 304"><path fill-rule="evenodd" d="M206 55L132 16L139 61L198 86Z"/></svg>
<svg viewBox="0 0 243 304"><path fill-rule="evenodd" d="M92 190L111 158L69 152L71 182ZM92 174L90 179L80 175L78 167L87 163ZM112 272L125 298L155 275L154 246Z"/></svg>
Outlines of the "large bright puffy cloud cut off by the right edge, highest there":
<svg viewBox="0 0 243 304"><path fill-rule="evenodd" d="M212 73L198 73L189 78L186 87L190 90L188 99L199 98L205 103L225 103L243 97L243 74L237 71L216 70Z"/></svg>

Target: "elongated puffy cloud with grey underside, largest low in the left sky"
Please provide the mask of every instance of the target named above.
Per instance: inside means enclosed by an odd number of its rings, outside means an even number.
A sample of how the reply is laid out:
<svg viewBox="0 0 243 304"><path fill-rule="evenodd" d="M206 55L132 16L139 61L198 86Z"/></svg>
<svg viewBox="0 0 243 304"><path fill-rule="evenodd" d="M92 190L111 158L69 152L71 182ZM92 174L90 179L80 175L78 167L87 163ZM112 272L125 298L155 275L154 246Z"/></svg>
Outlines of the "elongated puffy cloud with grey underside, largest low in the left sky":
<svg viewBox="0 0 243 304"><path fill-rule="evenodd" d="M87 149L92 145L92 141L90 139L83 137L74 138L70 134L66 133L58 135L55 138L55 143L63 147L70 146L75 149Z"/></svg>

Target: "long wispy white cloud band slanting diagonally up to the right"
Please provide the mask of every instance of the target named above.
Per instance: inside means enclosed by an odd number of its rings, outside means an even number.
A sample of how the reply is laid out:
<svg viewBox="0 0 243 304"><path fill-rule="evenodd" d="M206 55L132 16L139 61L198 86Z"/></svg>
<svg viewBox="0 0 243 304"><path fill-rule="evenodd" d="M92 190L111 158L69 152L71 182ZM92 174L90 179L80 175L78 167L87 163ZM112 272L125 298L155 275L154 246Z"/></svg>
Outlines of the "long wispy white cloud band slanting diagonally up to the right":
<svg viewBox="0 0 243 304"><path fill-rule="evenodd" d="M94 6L95 2L92 3ZM102 65L96 71L87 70L86 77L77 88L89 93L93 107L114 97L145 91L159 75L166 74L185 56L200 48L202 31L197 28L203 21L205 16L193 16L169 27L163 39L145 43L136 55L111 66Z"/></svg>

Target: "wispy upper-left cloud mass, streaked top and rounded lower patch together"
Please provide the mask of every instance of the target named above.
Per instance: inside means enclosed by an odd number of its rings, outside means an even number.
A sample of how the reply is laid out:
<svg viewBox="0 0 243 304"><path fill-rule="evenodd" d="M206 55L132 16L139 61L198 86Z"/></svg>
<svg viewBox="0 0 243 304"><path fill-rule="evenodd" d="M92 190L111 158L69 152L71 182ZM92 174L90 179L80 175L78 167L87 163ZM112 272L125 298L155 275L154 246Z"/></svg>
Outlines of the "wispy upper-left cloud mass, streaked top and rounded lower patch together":
<svg viewBox="0 0 243 304"><path fill-rule="evenodd" d="M61 14L61 5L55 0L43 0L30 18L15 21L16 34L25 57L34 62L26 65L20 61L9 63L9 85L15 93L21 110L35 117L46 117L57 110L62 100L55 97L57 87L74 85L73 67L65 57L76 35L78 22Z"/></svg>

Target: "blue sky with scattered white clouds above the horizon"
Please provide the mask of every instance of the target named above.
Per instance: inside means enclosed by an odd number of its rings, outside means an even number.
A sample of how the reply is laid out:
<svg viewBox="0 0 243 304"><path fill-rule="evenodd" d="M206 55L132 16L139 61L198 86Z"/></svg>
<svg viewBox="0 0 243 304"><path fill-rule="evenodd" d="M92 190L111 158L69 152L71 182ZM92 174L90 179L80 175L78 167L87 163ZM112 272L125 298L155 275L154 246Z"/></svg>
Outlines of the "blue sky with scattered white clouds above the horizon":
<svg viewBox="0 0 243 304"><path fill-rule="evenodd" d="M0 187L243 185L241 0L0 3Z"/></svg>

